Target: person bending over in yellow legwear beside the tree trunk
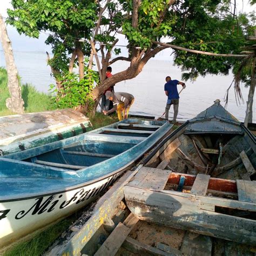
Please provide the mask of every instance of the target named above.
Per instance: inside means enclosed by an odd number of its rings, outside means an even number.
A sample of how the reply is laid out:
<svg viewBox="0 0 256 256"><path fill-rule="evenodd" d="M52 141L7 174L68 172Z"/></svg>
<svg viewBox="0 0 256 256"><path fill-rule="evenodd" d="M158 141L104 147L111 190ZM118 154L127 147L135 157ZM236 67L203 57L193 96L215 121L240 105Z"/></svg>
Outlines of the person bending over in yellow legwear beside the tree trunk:
<svg viewBox="0 0 256 256"><path fill-rule="evenodd" d="M114 111L117 111L117 116L119 121L128 118L129 110L134 102L134 97L127 92L111 92L107 91L106 99L112 100L113 102L113 109L109 111L103 111L104 114L109 114Z"/></svg>

